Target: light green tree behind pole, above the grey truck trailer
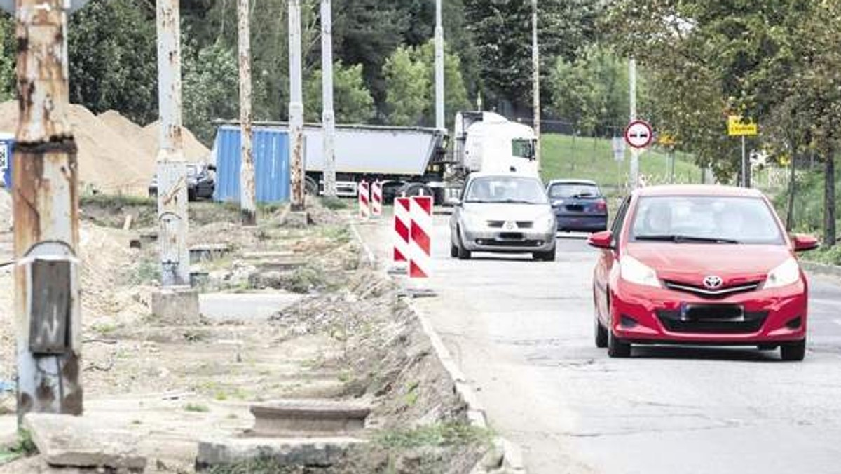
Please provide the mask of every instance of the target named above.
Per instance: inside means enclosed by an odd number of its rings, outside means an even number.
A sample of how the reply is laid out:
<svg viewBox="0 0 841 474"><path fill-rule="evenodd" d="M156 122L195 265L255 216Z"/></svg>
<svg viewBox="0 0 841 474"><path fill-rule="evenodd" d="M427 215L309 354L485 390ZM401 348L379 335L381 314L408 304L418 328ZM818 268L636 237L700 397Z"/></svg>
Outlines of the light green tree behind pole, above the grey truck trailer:
<svg viewBox="0 0 841 474"><path fill-rule="evenodd" d="M333 71L333 108L336 122L340 124L364 124L373 119L375 109L371 92L365 87L362 77L362 65L345 66L336 62ZM321 120L321 70L316 70L304 84L304 103L306 119L311 122Z"/></svg>

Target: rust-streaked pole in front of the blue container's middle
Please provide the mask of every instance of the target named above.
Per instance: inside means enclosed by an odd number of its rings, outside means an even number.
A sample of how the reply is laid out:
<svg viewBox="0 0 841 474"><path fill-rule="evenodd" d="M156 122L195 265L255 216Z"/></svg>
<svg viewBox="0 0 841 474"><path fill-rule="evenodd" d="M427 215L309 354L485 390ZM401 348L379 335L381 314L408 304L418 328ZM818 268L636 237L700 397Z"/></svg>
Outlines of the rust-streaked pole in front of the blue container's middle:
<svg viewBox="0 0 841 474"><path fill-rule="evenodd" d="M239 0L240 46L240 126L242 157L240 162L240 211L243 226L257 224L254 189L254 154L251 149L251 8L248 0Z"/></svg>

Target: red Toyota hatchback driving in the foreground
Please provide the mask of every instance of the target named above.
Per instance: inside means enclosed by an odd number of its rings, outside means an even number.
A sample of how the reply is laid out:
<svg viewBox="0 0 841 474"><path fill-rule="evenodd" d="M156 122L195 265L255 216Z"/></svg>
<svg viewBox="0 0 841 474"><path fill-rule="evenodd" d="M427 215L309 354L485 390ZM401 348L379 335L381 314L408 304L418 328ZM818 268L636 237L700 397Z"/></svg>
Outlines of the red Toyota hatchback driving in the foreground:
<svg viewBox="0 0 841 474"><path fill-rule="evenodd" d="M675 185L637 189L601 249L593 280L595 344L627 357L632 344L780 348L806 354L807 280L789 237L754 189Z"/></svg>

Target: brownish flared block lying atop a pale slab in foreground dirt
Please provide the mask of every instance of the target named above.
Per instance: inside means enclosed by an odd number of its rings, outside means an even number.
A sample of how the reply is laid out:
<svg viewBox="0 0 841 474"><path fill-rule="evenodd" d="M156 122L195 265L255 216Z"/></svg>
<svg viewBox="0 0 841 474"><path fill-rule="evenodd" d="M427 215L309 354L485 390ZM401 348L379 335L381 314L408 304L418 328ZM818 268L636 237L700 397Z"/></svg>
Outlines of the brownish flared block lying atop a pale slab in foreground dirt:
<svg viewBox="0 0 841 474"><path fill-rule="evenodd" d="M351 433L365 428L371 408L356 402L283 400L251 406L254 434Z"/></svg>

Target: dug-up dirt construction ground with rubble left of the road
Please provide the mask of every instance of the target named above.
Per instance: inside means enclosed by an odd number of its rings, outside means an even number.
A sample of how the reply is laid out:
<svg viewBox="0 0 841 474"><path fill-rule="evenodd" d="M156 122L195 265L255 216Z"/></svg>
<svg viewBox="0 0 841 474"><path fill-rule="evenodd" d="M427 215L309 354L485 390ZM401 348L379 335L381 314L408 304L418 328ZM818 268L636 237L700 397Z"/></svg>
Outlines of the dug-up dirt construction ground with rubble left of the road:
<svg viewBox="0 0 841 474"><path fill-rule="evenodd" d="M150 316L154 203L83 202L85 428L73 432L92 438L56 435L69 426L61 416L29 420L19 437L3 391L0 473L519 471L440 340L372 268L346 224L354 212L308 210L314 226L285 225L281 208L244 229L235 209L191 205L207 314L172 322ZM123 229L128 214L139 228ZM0 269L3 383L14 380L10 280Z"/></svg>

